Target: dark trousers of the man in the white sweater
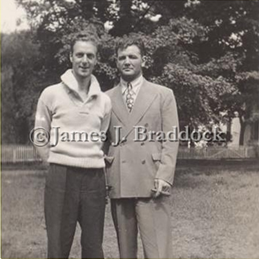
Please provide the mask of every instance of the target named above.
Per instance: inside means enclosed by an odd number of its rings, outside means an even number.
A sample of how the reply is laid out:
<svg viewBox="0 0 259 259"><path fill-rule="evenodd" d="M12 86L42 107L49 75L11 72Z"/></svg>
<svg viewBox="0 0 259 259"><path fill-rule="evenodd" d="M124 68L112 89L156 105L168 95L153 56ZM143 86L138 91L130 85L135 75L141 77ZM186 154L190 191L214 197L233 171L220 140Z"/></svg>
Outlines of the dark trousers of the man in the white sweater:
<svg viewBox="0 0 259 259"><path fill-rule="evenodd" d="M48 258L68 258L77 221L81 257L104 258L105 194L103 169L50 164L44 200Z"/></svg>

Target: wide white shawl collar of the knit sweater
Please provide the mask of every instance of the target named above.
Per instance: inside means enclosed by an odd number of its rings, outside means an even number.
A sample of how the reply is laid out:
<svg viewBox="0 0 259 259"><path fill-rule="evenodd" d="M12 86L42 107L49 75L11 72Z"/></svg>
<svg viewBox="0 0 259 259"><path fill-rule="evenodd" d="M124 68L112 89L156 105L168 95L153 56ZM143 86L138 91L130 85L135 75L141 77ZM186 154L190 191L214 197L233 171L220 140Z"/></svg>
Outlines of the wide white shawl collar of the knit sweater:
<svg viewBox="0 0 259 259"><path fill-rule="evenodd" d="M72 69L66 70L66 72L61 75L61 81L68 86L69 90L73 90L78 94L78 83L75 75L73 75ZM88 90L88 97L93 95L99 95L101 93L101 88L99 83L94 75L90 76L90 86Z"/></svg>

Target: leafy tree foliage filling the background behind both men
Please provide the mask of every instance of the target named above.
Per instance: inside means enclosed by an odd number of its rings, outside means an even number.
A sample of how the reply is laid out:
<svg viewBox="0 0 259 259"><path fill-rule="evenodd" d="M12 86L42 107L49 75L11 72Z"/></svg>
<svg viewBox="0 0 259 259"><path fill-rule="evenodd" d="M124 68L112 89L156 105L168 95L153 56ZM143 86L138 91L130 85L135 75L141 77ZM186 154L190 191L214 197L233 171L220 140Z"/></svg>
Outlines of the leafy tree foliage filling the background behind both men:
<svg viewBox="0 0 259 259"><path fill-rule="evenodd" d="M9 105L9 113L17 111L26 124L33 120L39 92L70 66L70 39L80 30L94 30L100 38L95 75L103 90L118 80L118 37L142 37L144 75L174 90L185 124L219 122L226 111L229 117L234 111L247 121L253 117L258 104L257 0L16 1L26 9L31 31L8 36L15 45L2 47L2 70L13 73L8 78L15 105ZM9 95L7 88L3 93Z"/></svg>

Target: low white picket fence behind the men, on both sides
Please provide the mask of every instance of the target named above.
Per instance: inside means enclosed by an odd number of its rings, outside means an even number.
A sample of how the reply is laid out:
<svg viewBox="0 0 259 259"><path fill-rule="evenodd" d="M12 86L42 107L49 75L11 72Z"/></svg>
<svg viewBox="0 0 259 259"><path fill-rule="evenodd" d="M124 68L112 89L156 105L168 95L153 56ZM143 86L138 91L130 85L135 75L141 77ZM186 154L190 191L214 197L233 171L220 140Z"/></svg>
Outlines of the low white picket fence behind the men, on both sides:
<svg viewBox="0 0 259 259"><path fill-rule="evenodd" d="M185 148L180 147L178 159L246 159L256 158L259 154L258 146L237 146L231 148ZM33 146L3 145L1 146L2 164L15 164L26 162L40 162L41 159Z"/></svg>

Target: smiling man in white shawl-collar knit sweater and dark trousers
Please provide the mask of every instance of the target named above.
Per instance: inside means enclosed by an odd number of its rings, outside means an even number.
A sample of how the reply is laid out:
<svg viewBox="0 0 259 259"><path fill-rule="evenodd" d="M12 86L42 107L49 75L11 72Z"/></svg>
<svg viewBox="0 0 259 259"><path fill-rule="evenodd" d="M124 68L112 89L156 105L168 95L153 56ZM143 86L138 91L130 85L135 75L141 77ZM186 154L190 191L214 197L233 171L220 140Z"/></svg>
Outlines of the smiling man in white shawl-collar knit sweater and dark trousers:
<svg viewBox="0 0 259 259"><path fill-rule="evenodd" d="M111 100L93 73L97 39L77 35L71 43L72 69L47 87L37 105L34 143L50 163L45 189L48 258L68 258L77 222L81 257L104 258L102 250L105 177L102 144Z"/></svg>

